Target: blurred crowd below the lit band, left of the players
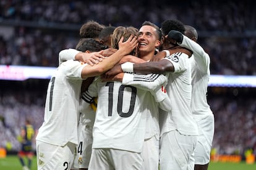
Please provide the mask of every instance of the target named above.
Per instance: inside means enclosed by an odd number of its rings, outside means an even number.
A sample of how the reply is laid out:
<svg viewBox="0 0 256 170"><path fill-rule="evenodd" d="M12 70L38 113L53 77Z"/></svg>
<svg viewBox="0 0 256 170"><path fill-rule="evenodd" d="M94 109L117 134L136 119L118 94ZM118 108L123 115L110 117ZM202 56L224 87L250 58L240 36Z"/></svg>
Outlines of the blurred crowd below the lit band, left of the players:
<svg viewBox="0 0 256 170"><path fill-rule="evenodd" d="M0 99L0 148L6 148L9 143L11 150L18 151L18 136L20 128L25 126L25 119L31 119L36 129L43 123L45 94L30 90L14 91L2 94Z"/></svg>

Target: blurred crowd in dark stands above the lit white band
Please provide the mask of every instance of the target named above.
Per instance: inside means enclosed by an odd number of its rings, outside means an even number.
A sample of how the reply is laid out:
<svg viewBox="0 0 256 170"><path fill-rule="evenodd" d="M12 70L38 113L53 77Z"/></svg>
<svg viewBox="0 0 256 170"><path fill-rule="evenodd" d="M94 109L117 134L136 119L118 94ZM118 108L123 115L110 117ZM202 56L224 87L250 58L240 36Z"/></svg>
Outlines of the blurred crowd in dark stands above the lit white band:
<svg viewBox="0 0 256 170"><path fill-rule="evenodd" d="M145 20L161 26L164 20L178 19L197 28L198 43L211 56L212 74L256 75L252 2L3 0L0 30L1 25L12 25L14 31L8 38L0 34L0 64L57 67L59 51L75 47L79 28L88 20L139 27Z"/></svg>

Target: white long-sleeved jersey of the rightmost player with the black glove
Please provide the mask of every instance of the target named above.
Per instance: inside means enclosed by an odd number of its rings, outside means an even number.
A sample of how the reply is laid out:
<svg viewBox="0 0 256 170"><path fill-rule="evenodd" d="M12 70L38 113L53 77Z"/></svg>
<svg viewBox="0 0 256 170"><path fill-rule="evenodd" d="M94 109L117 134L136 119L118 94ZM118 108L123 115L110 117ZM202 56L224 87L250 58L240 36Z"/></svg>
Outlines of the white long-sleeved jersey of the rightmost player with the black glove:
<svg viewBox="0 0 256 170"><path fill-rule="evenodd" d="M210 57L203 48L187 36L183 36L181 46L193 51L190 57L192 73L191 107L194 118L199 121L212 114L207 102L207 87L210 78Z"/></svg>

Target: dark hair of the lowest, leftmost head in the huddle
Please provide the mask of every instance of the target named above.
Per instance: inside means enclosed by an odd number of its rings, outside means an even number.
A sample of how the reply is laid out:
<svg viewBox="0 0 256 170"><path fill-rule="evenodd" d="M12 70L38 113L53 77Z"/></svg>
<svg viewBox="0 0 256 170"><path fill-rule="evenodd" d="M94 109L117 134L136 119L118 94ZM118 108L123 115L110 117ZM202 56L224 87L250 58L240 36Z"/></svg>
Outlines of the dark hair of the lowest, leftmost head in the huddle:
<svg viewBox="0 0 256 170"><path fill-rule="evenodd" d="M104 46L100 44L100 42L96 41L93 38L81 38L75 47L78 51L90 51L90 52L98 52L104 49L107 49L108 46Z"/></svg>

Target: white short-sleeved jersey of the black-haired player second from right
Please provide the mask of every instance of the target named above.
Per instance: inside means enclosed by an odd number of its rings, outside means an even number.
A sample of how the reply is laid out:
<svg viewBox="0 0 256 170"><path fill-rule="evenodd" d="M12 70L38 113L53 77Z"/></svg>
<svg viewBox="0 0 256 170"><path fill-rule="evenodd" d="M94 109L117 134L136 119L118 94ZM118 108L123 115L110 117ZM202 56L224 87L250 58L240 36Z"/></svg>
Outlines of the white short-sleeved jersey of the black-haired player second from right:
<svg viewBox="0 0 256 170"><path fill-rule="evenodd" d="M168 60L174 65L174 72L168 73L166 91L171 100L171 111L161 118L161 134L176 130L184 135L198 135L197 124L190 108L192 86L189 56L176 52L163 60Z"/></svg>

